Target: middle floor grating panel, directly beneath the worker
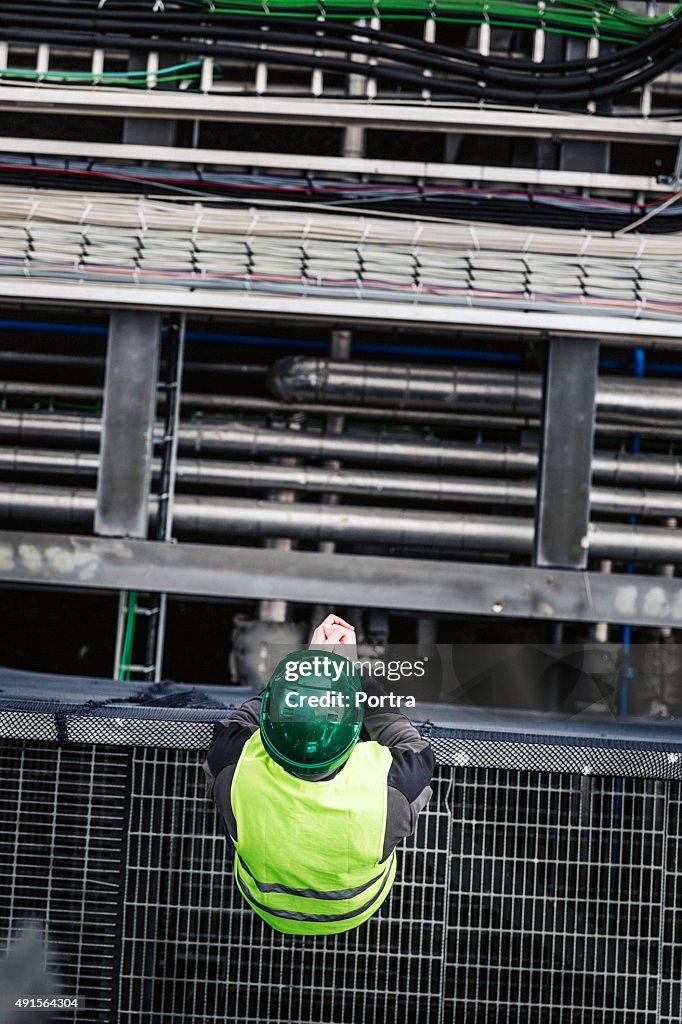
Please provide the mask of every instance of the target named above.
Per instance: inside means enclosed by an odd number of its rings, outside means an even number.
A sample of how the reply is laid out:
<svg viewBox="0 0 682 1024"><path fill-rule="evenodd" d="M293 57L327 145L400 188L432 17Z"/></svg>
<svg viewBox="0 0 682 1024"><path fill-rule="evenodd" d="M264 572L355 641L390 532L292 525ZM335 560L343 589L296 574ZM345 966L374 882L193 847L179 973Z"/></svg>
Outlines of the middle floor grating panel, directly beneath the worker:
<svg viewBox="0 0 682 1024"><path fill-rule="evenodd" d="M182 796L161 804L152 794L171 779ZM401 878L367 927L340 936L281 936L235 890L197 758L135 751L119 1019L437 1021L449 785L447 777L438 780L418 841L402 857ZM150 829L167 837L163 864L150 859ZM154 907L152 928L140 910L146 906Z"/></svg>

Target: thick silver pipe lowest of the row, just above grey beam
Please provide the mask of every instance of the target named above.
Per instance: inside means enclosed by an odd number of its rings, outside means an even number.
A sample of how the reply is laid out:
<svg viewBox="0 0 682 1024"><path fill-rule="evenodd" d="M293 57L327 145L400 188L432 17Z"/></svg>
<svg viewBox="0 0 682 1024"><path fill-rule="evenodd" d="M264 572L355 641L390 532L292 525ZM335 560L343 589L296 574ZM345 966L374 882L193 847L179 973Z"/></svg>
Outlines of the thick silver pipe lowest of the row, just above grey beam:
<svg viewBox="0 0 682 1024"><path fill-rule="evenodd" d="M58 525L89 530L95 508L93 490L24 487L7 484L0 493L0 521L23 527ZM156 499L150 503L156 515ZM174 507L178 532L191 538L226 536L240 541L290 537L318 544L385 545L393 550L495 551L529 555L534 523L529 518L372 509L344 505L254 502L237 498L183 495ZM682 530L655 526L591 523L590 554L633 562L682 562Z"/></svg>

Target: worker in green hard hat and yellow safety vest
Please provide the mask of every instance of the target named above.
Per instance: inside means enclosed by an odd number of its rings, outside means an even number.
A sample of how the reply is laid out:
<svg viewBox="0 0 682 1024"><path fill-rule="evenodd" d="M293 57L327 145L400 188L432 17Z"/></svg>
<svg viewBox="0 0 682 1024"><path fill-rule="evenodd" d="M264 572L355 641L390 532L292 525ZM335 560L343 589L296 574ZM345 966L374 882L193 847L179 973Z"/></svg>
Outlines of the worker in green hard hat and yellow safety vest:
<svg viewBox="0 0 682 1024"><path fill-rule="evenodd" d="M328 615L216 722L204 762L236 884L278 932L329 935L372 916L432 796L430 745L399 711L356 697L384 691L354 662L354 628Z"/></svg>

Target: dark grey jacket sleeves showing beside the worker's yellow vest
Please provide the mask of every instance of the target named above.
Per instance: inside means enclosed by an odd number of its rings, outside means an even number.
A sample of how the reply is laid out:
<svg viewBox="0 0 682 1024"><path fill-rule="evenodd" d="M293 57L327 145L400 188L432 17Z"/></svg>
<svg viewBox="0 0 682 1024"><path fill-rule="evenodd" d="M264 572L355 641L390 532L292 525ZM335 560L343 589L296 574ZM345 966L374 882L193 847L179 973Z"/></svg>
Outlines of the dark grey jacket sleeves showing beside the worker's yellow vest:
<svg viewBox="0 0 682 1024"><path fill-rule="evenodd" d="M384 690L373 680L363 681L369 694L383 694ZM227 824L227 831L239 842L237 822L230 802L230 787L237 762L247 739L259 727L261 693L238 708L230 718L221 719L213 728L211 745L204 762L210 797ZM394 708L368 708L359 742L376 740L390 748L393 764L387 778L387 814L384 834L383 858L396 843L412 836L417 826L419 812L432 796L430 786L433 774L433 751L409 719ZM337 771L343 771L343 765ZM332 773L333 774L333 773ZM331 777L327 776L327 777Z"/></svg>

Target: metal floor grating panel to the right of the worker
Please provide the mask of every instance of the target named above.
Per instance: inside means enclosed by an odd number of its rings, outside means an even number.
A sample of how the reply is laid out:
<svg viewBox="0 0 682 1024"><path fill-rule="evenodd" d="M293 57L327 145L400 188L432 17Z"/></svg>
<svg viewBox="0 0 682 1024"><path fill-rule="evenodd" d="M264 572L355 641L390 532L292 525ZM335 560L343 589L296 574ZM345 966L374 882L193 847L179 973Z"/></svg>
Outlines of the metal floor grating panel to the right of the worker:
<svg viewBox="0 0 682 1024"><path fill-rule="evenodd" d="M677 1020L658 1010L678 986L670 967L659 975L658 939L662 898L676 886L678 785L479 770L468 779L456 787L452 849L459 1005L494 1007L483 1019L496 1021Z"/></svg>

